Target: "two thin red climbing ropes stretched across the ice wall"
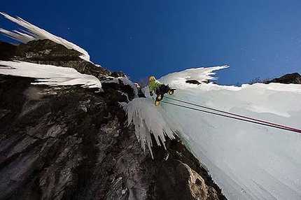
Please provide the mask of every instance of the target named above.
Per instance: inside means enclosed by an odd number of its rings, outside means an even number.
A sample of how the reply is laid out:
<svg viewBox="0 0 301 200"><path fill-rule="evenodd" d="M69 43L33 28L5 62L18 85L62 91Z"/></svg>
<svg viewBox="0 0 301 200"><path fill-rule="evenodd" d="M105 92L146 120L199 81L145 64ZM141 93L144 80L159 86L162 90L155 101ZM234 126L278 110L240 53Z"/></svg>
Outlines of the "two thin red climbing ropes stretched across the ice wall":
<svg viewBox="0 0 301 200"><path fill-rule="evenodd" d="M215 109L215 108L209 108L207 106L202 106L202 105L199 105L199 104L196 104L196 103L190 103L188 101L183 101L181 99L174 99L174 98L171 98L171 97L165 97L165 98L166 99L172 99L174 101L179 101L181 103L186 103L186 104L189 104L189 105L192 105L192 106L205 108L205 109L208 109L208 110L214 110L214 111L219 112L219 113L214 113L214 112L211 112L211 111L202 110L202 109L198 109L198 108L192 108L192 107L189 107L189 106L183 106L181 104L171 103L171 102L167 102L167 101L161 101L162 103L167 103L167 104L174 105L174 106L179 106L179 107L182 107L182 108L188 108L190 110L197 110L197 111L200 111L200 112L203 112L203 113L209 113L209 114L213 114L213 115L219 115L219 116L222 116L222 117L228 117L228 118L232 118L232 119L235 119L235 120L241 120L241 121L244 121L244 122L251 122L251 123L254 123L254 124L261 124L261 125L264 125L264 126L267 126L267 127L274 127L276 129L283 129L283 130L287 130L287 131L293 131L293 132L301 133L301 129L295 129L293 127L287 127L287 126L283 126L281 124L267 122L267 121L264 121L264 120L258 120L258 119L255 119L253 117L246 117L244 115L237 115L235 113L230 113L230 112L226 112L226 111L223 111L223 110L218 110L218 109ZM223 113L223 114L221 114L221 113ZM227 115L224 115L224 114L227 114Z"/></svg>

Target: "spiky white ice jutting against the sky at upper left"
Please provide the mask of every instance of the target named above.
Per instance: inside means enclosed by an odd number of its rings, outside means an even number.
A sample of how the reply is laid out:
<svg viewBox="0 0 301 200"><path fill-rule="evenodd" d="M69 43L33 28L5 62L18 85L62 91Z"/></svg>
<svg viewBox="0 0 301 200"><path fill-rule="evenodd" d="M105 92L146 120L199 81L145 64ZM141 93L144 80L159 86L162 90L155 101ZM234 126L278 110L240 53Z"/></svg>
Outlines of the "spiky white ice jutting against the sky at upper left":
<svg viewBox="0 0 301 200"><path fill-rule="evenodd" d="M10 38L13 38L17 41L20 41L22 43L27 43L29 41L34 40L43 40L43 39L49 39L50 41L54 41L55 43L59 43L61 45L64 45L68 49L76 50L83 55L80 56L80 58L85 59L86 61L90 62L90 55L87 53L86 50L83 48L80 48L78 45L73 44L69 41L66 41L63 38L60 38L58 36L55 36L53 34L50 34L48 31L45 31L44 29L41 29L39 27L36 27L34 24L30 24L29 22L23 20L20 17L11 17L10 15L6 13L1 13L4 17L6 17L8 20L15 22L16 24L19 24L21 27L24 27L26 31L23 31L24 33L20 31L7 31L6 29L0 29L0 32Z"/></svg>

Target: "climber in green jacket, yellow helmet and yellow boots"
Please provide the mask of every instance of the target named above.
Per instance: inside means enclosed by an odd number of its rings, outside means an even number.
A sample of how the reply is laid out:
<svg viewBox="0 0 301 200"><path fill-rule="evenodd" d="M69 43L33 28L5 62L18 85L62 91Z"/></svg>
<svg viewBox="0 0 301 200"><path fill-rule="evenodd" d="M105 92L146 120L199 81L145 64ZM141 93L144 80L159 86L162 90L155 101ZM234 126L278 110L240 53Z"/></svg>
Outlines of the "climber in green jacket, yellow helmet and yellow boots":
<svg viewBox="0 0 301 200"><path fill-rule="evenodd" d="M149 78L148 89L151 96L153 96L153 92L157 94L157 97L155 98L155 106L159 106L160 101L164 97L164 94L167 93L169 95L172 95L174 94L174 90L176 90L170 88L168 85L160 83L159 80L156 80L154 76L151 76Z"/></svg>

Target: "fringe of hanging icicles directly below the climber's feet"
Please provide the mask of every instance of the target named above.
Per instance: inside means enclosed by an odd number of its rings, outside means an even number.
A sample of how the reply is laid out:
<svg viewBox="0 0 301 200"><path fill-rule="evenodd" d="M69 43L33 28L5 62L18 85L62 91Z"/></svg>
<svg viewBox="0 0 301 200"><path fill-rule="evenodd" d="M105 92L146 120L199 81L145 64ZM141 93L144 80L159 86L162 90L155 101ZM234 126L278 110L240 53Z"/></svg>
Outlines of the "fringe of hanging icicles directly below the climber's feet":
<svg viewBox="0 0 301 200"><path fill-rule="evenodd" d="M145 151L147 145L152 157L151 134L153 134L157 145L162 143L165 147L165 136L173 139L175 131L181 131L181 127L164 110L155 107L151 99L137 98L129 103L120 104L127 113L128 124L134 123L135 134L141 143L141 148Z"/></svg>

